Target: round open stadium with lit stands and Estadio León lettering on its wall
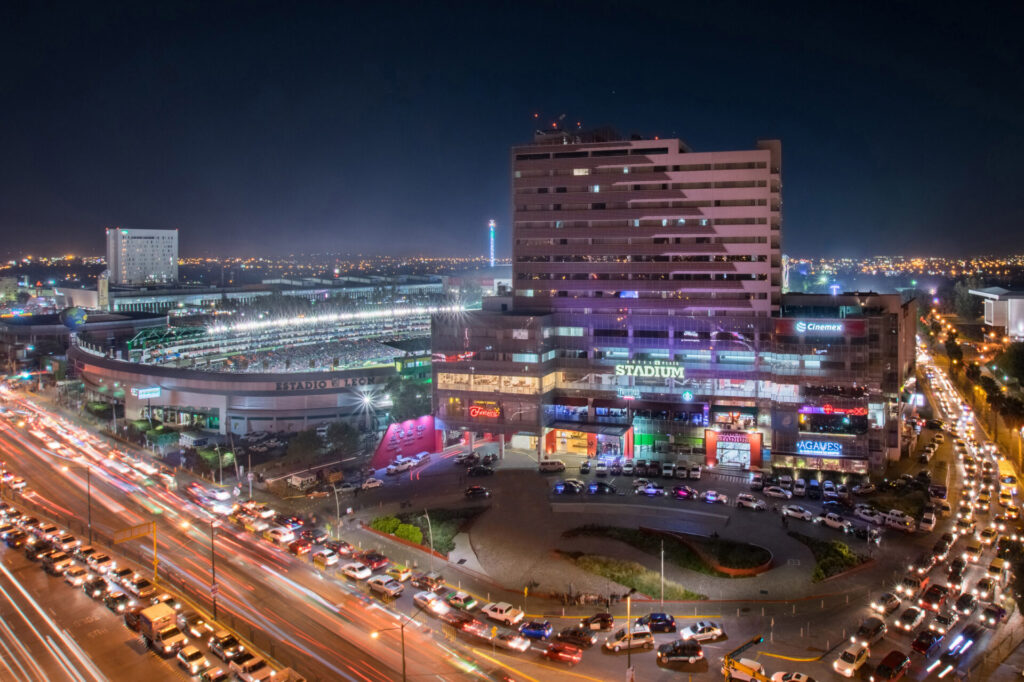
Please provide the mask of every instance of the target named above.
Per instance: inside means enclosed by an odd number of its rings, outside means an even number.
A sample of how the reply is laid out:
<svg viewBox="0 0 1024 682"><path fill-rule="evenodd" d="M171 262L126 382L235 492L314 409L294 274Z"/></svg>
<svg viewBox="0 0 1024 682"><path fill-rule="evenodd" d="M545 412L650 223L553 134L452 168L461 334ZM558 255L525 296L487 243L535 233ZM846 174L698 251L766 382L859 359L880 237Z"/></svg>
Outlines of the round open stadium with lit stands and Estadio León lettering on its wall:
<svg viewBox="0 0 1024 682"><path fill-rule="evenodd" d="M378 305L325 314L146 329L126 342L78 335L69 366L85 399L128 419L244 435L337 420L370 426L391 378L430 372L430 316L458 305Z"/></svg>

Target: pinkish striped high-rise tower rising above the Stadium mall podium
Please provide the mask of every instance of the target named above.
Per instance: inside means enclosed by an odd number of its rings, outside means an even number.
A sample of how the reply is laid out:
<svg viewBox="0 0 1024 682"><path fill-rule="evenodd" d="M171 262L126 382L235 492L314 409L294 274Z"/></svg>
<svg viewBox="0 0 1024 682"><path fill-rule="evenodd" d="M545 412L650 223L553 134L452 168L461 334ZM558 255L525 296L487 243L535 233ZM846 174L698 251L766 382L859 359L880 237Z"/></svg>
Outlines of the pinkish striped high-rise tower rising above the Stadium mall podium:
<svg viewBox="0 0 1024 682"><path fill-rule="evenodd" d="M777 313L780 173L778 140L695 153L539 133L512 150L515 307Z"/></svg>

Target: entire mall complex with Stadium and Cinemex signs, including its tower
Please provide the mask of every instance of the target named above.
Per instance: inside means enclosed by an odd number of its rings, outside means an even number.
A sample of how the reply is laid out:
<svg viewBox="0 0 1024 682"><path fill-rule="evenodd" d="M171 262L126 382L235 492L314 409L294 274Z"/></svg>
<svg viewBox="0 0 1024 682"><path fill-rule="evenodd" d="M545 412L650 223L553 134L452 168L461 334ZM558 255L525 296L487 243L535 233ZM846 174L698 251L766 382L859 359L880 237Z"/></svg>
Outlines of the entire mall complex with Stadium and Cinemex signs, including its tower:
<svg viewBox="0 0 1024 682"><path fill-rule="evenodd" d="M863 473L900 453L915 305L782 294L781 147L539 133L512 296L432 326L450 431L560 454Z"/></svg>

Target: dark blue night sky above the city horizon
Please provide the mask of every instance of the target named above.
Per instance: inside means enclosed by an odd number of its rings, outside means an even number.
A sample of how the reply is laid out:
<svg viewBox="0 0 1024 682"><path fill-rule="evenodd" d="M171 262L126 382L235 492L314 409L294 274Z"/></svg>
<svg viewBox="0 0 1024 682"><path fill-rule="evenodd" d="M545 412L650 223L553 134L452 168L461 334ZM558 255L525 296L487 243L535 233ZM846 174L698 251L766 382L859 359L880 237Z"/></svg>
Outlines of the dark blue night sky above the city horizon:
<svg viewBox="0 0 1024 682"><path fill-rule="evenodd" d="M3 3L0 253L505 255L535 113L781 138L792 255L1024 251L1012 5Z"/></svg>

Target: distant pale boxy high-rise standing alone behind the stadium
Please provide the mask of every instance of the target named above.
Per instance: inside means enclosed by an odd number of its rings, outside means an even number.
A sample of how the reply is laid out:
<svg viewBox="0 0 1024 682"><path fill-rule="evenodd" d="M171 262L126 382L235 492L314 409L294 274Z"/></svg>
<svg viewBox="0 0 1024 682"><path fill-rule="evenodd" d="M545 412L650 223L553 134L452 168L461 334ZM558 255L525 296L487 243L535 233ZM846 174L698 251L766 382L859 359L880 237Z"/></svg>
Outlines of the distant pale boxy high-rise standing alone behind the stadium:
<svg viewBox="0 0 1024 682"><path fill-rule="evenodd" d="M178 230L108 227L106 269L112 285L175 284Z"/></svg>

